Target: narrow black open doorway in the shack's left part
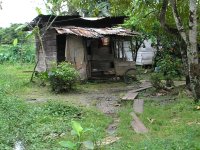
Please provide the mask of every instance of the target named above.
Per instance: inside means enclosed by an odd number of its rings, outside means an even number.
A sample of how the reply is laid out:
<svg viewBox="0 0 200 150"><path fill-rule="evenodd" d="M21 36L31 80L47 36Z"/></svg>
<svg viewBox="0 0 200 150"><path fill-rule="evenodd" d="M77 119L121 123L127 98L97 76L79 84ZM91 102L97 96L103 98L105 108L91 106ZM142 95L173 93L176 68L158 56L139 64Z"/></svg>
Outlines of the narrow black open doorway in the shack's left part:
<svg viewBox="0 0 200 150"><path fill-rule="evenodd" d="M66 35L57 35L57 63L65 61Z"/></svg>

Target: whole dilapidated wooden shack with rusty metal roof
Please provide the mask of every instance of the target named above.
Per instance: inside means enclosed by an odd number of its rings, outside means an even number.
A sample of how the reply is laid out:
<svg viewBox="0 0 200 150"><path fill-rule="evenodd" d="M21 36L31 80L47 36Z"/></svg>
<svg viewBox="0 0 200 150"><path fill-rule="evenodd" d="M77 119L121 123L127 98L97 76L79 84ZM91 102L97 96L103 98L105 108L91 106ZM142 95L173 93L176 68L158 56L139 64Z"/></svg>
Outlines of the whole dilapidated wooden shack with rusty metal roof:
<svg viewBox="0 0 200 150"><path fill-rule="evenodd" d="M124 19L36 17L30 26L39 27L44 47L43 51L36 36L36 70L45 71L53 63L67 61L74 64L82 79L115 76L116 62L134 63L131 38L138 33L115 27L122 24Z"/></svg>

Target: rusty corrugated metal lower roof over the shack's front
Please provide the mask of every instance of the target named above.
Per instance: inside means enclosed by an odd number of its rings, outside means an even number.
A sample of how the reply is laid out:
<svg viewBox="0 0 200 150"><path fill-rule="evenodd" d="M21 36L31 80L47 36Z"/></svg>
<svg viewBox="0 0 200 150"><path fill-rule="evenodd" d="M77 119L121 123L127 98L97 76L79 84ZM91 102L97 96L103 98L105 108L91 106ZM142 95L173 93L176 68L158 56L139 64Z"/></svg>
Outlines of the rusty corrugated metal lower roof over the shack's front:
<svg viewBox="0 0 200 150"><path fill-rule="evenodd" d="M132 32L123 28L83 28L83 27L54 27L58 34L72 34L88 38L99 38L106 35L135 36L138 32Z"/></svg>

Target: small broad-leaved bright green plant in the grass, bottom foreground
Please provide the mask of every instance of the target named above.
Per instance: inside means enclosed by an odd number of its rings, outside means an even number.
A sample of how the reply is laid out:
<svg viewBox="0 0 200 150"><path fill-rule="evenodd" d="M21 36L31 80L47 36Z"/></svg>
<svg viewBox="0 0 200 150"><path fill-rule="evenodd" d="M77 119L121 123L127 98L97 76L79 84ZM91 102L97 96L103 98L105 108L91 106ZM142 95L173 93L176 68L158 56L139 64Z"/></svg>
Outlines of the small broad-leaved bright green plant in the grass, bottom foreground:
<svg viewBox="0 0 200 150"><path fill-rule="evenodd" d="M94 129L83 129L83 127L76 121L72 121L72 131L71 134L76 136L76 140L74 142L72 141L60 141L59 144L63 147L66 147L68 149L72 150L80 150L82 146L84 146L87 149L94 149L95 144L92 141L83 141L82 137L84 133L87 131L93 131Z"/></svg>

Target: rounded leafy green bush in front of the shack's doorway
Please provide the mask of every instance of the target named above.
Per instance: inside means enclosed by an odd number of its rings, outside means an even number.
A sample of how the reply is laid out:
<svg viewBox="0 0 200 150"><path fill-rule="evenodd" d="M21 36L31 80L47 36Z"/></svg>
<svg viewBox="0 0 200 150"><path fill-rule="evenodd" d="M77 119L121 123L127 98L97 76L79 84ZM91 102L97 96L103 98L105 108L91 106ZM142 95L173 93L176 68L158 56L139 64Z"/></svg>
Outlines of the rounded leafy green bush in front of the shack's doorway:
<svg viewBox="0 0 200 150"><path fill-rule="evenodd" d="M72 89L78 80L79 74L72 64L67 62L60 63L51 69L49 81L53 91L65 92Z"/></svg>

